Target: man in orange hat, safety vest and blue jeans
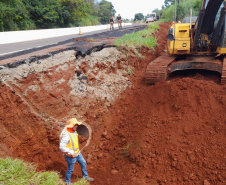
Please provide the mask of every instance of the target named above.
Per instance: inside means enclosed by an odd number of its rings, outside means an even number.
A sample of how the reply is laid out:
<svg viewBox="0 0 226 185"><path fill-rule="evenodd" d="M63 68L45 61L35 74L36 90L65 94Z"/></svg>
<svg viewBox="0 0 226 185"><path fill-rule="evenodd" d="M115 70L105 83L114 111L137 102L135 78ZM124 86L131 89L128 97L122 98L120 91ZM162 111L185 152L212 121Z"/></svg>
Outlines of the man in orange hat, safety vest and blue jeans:
<svg viewBox="0 0 226 185"><path fill-rule="evenodd" d="M68 164L65 175L66 184L71 183L71 175L74 171L74 165L76 162L78 162L81 166L83 178L85 178L87 181L94 181L94 179L89 177L87 173L86 161L79 150L78 134L76 130L78 125L81 124L82 123L77 121L76 118L71 118L60 135L60 150L63 152L64 158Z"/></svg>

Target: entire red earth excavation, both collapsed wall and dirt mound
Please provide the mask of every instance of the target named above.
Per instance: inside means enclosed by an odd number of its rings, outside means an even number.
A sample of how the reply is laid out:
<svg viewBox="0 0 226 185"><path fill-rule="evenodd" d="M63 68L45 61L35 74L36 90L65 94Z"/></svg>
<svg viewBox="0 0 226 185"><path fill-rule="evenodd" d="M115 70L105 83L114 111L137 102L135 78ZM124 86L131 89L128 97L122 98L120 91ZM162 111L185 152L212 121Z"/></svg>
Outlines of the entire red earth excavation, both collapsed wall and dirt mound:
<svg viewBox="0 0 226 185"><path fill-rule="evenodd" d="M92 128L83 151L91 184L226 184L226 86L202 73L144 83L147 64L165 53L168 27L160 25L155 53L140 50L145 58L71 48L1 69L0 157L63 178L59 134L76 117ZM81 177L77 164L72 180Z"/></svg>

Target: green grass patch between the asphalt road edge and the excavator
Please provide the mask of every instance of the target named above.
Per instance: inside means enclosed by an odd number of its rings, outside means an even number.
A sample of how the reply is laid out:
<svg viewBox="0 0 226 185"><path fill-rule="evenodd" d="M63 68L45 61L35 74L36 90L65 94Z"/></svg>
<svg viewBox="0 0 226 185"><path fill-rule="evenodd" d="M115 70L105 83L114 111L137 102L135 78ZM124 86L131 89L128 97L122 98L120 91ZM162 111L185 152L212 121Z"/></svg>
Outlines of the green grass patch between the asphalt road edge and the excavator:
<svg viewBox="0 0 226 185"><path fill-rule="evenodd" d="M125 34L123 37L115 40L117 47L125 47L127 49L141 48L146 46L154 49L157 46L157 38L151 36L156 29L159 28L159 23L155 22L148 24L148 27L144 30L133 32L131 34Z"/></svg>

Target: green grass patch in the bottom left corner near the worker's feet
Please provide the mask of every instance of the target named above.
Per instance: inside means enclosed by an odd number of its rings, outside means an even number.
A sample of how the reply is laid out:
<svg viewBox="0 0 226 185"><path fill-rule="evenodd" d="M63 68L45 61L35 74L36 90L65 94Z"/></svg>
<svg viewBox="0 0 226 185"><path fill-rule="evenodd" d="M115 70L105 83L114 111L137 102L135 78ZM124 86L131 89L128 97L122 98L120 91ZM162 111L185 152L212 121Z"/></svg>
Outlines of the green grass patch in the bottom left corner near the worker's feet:
<svg viewBox="0 0 226 185"><path fill-rule="evenodd" d="M0 158L0 184L4 185L64 185L58 172L36 172L36 167L20 159ZM86 185L82 179L73 185Z"/></svg>

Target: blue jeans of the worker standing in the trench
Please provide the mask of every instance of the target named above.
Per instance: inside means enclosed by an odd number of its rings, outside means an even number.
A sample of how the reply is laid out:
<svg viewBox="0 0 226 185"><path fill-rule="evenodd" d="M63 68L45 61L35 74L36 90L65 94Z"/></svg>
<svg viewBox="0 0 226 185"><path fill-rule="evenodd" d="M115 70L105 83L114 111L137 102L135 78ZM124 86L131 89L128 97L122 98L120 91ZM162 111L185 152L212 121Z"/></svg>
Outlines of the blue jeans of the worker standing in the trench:
<svg viewBox="0 0 226 185"><path fill-rule="evenodd" d="M69 157L69 156L64 156L65 160L67 161L68 167L67 167L67 172L65 175L65 182L70 183L71 182L71 175L74 171L74 166L75 163L78 162L81 166L82 169L82 176L84 178L88 177L88 173L86 170L86 161L83 158L82 154L80 153L77 157Z"/></svg>

